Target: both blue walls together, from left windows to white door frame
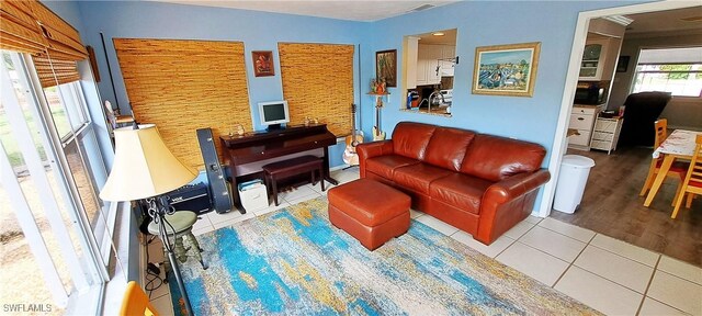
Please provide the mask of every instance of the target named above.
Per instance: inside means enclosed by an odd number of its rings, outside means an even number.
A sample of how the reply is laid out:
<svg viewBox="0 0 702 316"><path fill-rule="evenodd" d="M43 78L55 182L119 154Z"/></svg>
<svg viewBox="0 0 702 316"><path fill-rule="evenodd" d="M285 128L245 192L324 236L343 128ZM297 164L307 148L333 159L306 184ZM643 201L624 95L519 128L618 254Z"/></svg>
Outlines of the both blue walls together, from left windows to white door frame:
<svg viewBox="0 0 702 316"><path fill-rule="evenodd" d="M114 100L101 49L105 35L107 57L123 111L127 97L112 37L191 38L241 41L246 48L249 103L254 128L261 128L257 102L282 99L280 58L276 76L254 78L251 50L276 52L279 42L361 44L361 127L370 135L374 124L373 100L365 95L366 82L375 76L375 52L398 49L405 35L457 29L453 117L400 112L401 89L390 88L389 104L383 109L382 127L390 132L399 121L457 126L553 146L569 52L580 11L633 4L633 1L476 1L458 2L373 23L349 22L290 14L169 4L148 1L81 1L82 37L97 47L104 99ZM476 46L541 42L541 57L533 98L476 95L471 93ZM401 63L399 63L401 64ZM398 65L398 75L403 66ZM354 67L354 72L358 71ZM358 74L354 74L358 75ZM401 76L401 75L400 75ZM354 80L358 86L358 80ZM359 87L355 87L358 89ZM356 90L358 91L358 90ZM358 93L356 93L358 94ZM358 98L358 97L356 97ZM343 146L331 148L331 165L341 163ZM547 157L543 166L548 163Z"/></svg>

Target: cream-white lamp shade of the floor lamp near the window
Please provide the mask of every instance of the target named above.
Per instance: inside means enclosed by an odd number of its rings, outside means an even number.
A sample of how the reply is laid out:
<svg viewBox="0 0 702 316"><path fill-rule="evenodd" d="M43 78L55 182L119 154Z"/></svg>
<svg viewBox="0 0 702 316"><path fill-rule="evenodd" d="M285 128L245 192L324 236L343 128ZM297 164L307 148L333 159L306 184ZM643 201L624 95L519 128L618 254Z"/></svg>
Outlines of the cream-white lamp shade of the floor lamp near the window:
<svg viewBox="0 0 702 316"><path fill-rule="evenodd" d="M180 187L197 171L184 166L166 147L154 124L114 129L115 154L112 171L100 192L105 201L152 198Z"/></svg>

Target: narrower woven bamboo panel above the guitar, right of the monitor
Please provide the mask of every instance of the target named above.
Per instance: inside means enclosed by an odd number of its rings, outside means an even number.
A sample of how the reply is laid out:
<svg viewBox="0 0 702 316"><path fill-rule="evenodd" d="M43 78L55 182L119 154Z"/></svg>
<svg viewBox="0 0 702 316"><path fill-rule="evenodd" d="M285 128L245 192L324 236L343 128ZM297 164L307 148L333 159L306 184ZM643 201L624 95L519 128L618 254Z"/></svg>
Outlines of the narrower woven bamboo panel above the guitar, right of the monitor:
<svg viewBox="0 0 702 316"><path fill-rule="evenodd" d="M335 135L349 135L353 45L279 43L278 49L291 123L317 117Z"/></svg>

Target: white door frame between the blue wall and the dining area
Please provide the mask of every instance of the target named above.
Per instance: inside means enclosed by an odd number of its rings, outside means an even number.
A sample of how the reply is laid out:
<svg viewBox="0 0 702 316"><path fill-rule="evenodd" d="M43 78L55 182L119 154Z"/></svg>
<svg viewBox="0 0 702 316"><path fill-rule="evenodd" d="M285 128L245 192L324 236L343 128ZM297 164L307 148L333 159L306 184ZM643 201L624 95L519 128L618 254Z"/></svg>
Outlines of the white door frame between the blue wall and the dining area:
<svg viewBox="0 0 702 316"><path fill-rule="evenodd" d="M563 100L561 101L561 113L558 113L558 124L556 125L556 134L554 135L553 146L551 148L551 162L548 163L548 171L551 171L552 178L551 181L548 181L544 185L544 194L541 198L541 204L539 205L539 211L536 214L537 216L546 217L551 214L551 206L553 205L554 193L556 191L558 172L561 171L561 160L563 159L563 155L566 153L566 133L568 131L569 122L568 119L570 117L570 111L573 110L573 99L575 98L575 88L578 83L580 60L582 59L582 49L585 49L585 41L588 35L588 26L590 25L590 20L608 15L636 14L699 5L700 2L698 1L667 0L595 11L585 11L578 14L578 22L576 24L575 36L573 38L573 49L570 50L570 61L568 63L566 84L564 87Z"/></svg>

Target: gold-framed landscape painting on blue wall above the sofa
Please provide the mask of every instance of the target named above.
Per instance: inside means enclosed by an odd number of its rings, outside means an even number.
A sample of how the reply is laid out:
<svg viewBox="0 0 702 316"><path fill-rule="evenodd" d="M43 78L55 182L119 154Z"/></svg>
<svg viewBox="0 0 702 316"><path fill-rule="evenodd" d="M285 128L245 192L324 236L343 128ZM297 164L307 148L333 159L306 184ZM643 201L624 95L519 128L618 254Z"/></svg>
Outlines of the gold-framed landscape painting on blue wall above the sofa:
<svg viewBox="0 0 702 316"><path fill-rule="evenodd" d="M473 93L532 97L541 42L475 48Z"/></svg>

